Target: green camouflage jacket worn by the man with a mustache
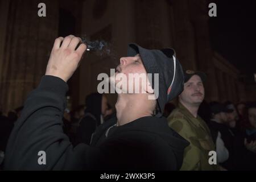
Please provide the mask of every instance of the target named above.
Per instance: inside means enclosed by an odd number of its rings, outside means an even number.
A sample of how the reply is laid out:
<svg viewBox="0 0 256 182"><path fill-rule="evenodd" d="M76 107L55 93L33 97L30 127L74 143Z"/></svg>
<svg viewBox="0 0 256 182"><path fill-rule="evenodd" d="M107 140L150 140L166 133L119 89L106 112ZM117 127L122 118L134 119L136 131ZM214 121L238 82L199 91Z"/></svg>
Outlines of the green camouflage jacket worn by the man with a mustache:
<svg viewBox="0 0 256 182"><path fill-rule="evenodd" d="M207 124L179 103L167 118L168 125L190 143L184 150L180 170L218 170L217 164L209 164L209 151L216 151Z"/></svg>

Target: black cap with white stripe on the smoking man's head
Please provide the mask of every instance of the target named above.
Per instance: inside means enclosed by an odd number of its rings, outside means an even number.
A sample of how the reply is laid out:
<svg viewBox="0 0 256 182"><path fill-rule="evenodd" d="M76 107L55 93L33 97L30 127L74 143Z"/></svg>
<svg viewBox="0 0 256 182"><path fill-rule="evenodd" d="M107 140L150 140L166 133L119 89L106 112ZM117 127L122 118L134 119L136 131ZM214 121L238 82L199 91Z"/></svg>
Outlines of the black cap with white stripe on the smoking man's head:
<svg viewBox="0 0 256 182"><path fill-rule="evenodd" d="M149 78L152 89L154 88L154 73L159 74L159 96L157 98L160 112L156 114L161 117L164 105L173 100L183 91L184 73L179 60L175 57L175 51L171 48L145 49L137 44L128 45L127 56L139 54L147 73L152 73Z"/></svg>

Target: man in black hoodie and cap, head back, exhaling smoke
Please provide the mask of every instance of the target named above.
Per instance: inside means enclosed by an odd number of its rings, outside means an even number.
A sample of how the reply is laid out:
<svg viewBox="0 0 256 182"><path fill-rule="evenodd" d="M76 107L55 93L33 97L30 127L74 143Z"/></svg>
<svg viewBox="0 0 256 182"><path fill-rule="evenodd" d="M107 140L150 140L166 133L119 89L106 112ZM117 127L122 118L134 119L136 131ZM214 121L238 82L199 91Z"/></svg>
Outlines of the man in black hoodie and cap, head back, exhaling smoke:
<svg viewBox="0 0 256 182"><path fill-rule="evenodd" d="M115 104L115 123L99 126L91 146L72 146L61 124L67 81L86 50L80 43L81 39L73 35L55 40L46 75L28 96L9 138L5 169L179 169L189 143L162 117L164 105L181 93L184 83L182 67L170 48L145 49L129 44L116 74L139 73L146 76L146 84L139 84L139 93L127 93L129 82L110 77L110 84L122 90ZM39 164L39 151L46 154L45 164Z"/></svg>

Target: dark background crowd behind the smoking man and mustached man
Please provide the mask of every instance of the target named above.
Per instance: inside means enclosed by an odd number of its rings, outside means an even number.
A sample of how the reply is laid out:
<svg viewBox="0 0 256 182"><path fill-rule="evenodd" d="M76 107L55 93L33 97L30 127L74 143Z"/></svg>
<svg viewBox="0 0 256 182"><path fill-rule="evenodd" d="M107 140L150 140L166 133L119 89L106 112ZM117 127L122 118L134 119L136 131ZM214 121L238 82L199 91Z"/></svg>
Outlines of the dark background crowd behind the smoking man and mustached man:
<svg viewBox="0 0 256 182"><path fill-rule="evenodd" d="M174 102L164 107L164 117L168 118L177 109ZM6 144L20 117L23 106L10 110L7 115L0 111L0 163L3 169ZM207 102L203 101L198 115L207 123L213 142L216 144L218 134L225 150L224 158L218 164L226 170L256 169L256 102ZM73 146L79 143L90 144L92 134L103 122L115 117L115 109L108 103L104 94L92 93L86 97L85 105L73 110L65 109L63 131L68 135ZM216 144L218 146L218 144ZM217 151L218 152L218 151ZM225 152L228 155L225 156Z"/></svg>

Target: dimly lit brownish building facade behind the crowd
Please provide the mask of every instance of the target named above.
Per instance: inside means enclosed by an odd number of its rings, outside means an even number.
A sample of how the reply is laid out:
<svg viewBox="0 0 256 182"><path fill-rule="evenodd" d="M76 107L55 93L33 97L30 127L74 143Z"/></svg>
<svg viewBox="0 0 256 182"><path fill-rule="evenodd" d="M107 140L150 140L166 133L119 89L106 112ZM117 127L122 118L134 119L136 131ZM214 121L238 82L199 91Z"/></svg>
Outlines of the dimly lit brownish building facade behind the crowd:
<svg viewBox="0 0 256 182"><path fill-rule="evenodd" d="M40 1L1 1L0 104L4 111L23 104L44 75L57 36L75 34L105 40L108 53L87 52L68 82L72 106L97 91L99 73L110 75L127 44L172 47L184 70L207 73L207 101L256 100L240 72L210 46L208 1L84 0L44 1L47 16L37 16ZM117 95L107 94L114 106ZM1 107L1 106L0 106Z"/></svg>

